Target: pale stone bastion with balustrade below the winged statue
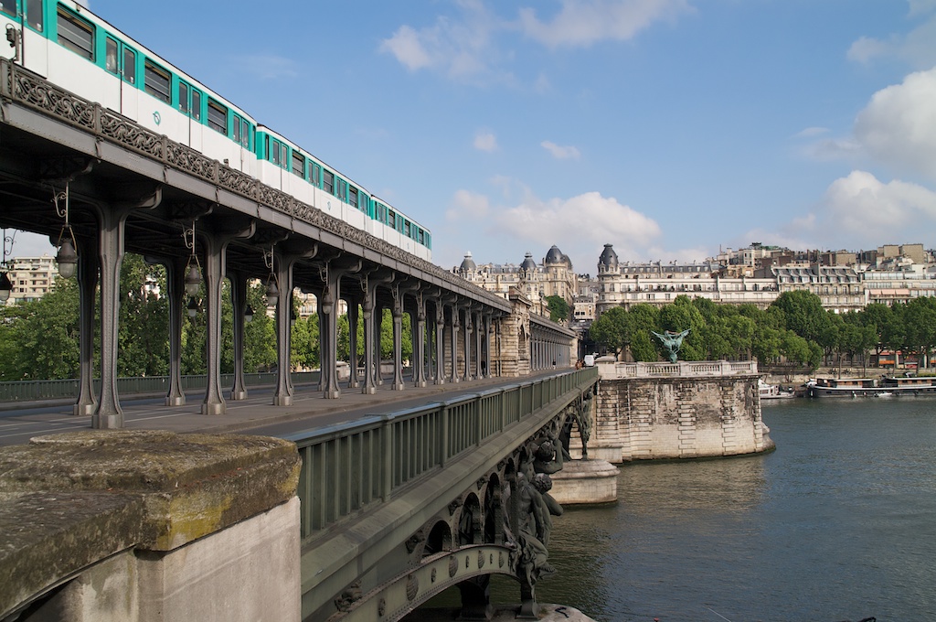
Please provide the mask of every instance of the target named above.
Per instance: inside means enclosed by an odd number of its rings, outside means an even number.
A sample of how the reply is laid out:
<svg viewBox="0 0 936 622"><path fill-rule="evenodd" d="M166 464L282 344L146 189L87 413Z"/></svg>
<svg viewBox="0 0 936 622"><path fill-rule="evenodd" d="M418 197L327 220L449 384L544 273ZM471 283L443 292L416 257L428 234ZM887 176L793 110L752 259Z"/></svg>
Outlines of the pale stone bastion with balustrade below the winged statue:
<svg viewBox="0 0 936 622"><path fill-rule="evenodd" d="M590 456L622 463L774 449L761 418L755 367L639 378L622 378L613 364L599 369Z"/></svg>

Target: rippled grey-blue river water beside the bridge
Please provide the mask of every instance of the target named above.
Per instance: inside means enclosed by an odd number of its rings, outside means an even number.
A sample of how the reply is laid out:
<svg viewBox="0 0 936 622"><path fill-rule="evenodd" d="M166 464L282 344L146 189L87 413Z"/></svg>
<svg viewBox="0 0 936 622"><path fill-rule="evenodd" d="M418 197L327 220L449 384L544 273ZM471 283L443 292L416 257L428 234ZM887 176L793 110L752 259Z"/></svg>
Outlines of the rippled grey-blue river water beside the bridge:
<svg viewBox="0 0 936 622"><path fill-rule="evenodd" d="M607 622L936 620L936 399L763 413L776 452L625 465L618 503L555 519L538 600Z"/></svg>

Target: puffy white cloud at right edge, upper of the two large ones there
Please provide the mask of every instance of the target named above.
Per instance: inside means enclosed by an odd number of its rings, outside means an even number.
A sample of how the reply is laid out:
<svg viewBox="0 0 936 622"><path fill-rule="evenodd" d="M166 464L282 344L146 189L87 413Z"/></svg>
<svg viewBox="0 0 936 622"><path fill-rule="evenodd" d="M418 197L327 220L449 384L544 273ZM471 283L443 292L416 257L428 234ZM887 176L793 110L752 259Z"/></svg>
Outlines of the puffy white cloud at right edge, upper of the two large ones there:
<svg viewBox="0 0 936 622"><path fill-rule="evenodd" d="M936 180L936 68L907 76L871 97L858 113L855 135L888 166Z"/></svg>

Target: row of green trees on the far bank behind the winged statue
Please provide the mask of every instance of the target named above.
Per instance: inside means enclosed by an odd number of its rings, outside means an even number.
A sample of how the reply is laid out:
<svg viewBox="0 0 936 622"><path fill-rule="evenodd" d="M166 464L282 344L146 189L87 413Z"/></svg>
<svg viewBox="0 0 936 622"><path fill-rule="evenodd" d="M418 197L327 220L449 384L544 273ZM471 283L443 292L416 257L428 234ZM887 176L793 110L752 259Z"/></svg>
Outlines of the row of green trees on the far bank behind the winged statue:
<svg viewBox="0 0 936 622"><path fill-rule="evenodd" d="M875 303L837 314L806 290L783 292L765 310L680 295L663 307L609 309L592 323L590 336L608 353L621 356L626 351L635 361L654 362L665 358L665 352L651 331L686 329L690 333L680 349L685 361L755 358L762 364L785 361L815 369L841 363L843 357L865 364L869 352L900 350L917 356L924 367L936 347L936 299Z"/></svg>

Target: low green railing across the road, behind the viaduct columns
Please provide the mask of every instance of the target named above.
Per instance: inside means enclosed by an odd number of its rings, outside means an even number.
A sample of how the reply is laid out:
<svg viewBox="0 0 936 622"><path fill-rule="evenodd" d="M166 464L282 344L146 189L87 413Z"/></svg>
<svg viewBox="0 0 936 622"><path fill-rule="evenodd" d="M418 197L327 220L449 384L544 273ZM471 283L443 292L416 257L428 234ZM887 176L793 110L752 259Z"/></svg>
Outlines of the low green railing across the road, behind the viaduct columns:
<svg viewBox="0 0 936 622"><path fill-rule="evenodd" d="M294 372L293 384L306 384L318 381L318 372ZM244 384L248 387L276 384L276 372L244 374ZM100 379L95 379L95 392L100 391ZM221 385L234 384L233 374L222 374ZM182 389L204 389L208 386L206 376L183 376ZM117 392L121 395L145 393L167 393L168 376L149 376L145 378L117 378ZM19 382L0 382L0 402L33 402L37 400L55 400L77 397L79 380L23 380Z"/></svg>

